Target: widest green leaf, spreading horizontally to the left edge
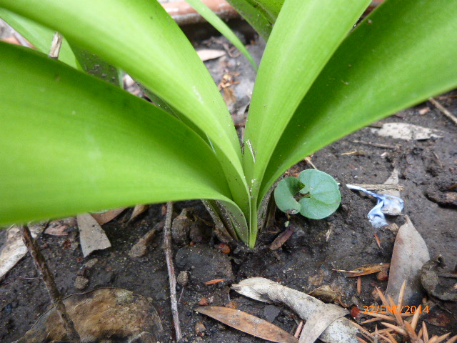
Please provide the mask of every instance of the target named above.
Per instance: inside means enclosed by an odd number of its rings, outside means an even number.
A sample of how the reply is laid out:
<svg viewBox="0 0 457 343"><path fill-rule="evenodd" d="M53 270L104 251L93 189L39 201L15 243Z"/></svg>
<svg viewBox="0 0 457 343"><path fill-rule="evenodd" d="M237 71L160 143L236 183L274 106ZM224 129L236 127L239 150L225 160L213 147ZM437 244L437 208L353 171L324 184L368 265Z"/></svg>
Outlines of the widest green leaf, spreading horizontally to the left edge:
<svg viewBox="0 0 457 343"><path fill-rule="evenodd" d="M0 54L0 223L179 199L233 206L214 151L174 116L31 49Z"/></svg>

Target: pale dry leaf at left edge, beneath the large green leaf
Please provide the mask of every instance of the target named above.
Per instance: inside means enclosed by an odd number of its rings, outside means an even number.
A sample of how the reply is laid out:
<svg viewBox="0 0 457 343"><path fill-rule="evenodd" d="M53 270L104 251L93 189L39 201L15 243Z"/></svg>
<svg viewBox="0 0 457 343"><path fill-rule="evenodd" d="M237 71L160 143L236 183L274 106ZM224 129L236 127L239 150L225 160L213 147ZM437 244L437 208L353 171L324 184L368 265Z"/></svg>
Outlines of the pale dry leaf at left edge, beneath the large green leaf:
<svg viewBox="0 0 457 343"><path fill-rule="evenodd" d="M36 238L48 223L29 224L31 235ZM6 229L6 241L0 248L0 279L25 256L27 248L22 242L22 235L19 227Z"/></svg>

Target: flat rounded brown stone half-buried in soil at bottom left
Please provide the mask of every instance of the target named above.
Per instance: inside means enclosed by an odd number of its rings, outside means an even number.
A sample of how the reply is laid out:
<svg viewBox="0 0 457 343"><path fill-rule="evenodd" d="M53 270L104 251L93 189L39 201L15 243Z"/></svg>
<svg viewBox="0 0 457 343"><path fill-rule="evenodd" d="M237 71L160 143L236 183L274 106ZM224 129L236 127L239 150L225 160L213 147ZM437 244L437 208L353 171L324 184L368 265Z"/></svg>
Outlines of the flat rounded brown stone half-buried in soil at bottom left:
<svg viewBox="0 0 457 343"><path fill-rule="evenodd" d="M131 342L148 333L158 342L161 322L156 309L141 295L126 289L100 288L64 299L66 312L73 320L81 342ZM116 339L114 339L116 337ZM18 342L51 342L65 339L54 307L45 312ZM136 341L134 341L136 342ZM147 342L147 341L146 341Z"/></svg>

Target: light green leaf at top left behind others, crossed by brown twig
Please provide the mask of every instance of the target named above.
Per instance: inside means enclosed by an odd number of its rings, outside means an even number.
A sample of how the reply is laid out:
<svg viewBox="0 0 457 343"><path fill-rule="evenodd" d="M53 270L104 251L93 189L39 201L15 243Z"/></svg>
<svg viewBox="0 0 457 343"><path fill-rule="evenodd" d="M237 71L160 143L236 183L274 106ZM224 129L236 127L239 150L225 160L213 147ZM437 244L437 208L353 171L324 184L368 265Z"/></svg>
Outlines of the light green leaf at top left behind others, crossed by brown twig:
<svg viewBox="0 0 457 343"><path fill-rule="evenodd" d="M53 30L6 9L0 8L0 18L4 19L13 29L24 36L38 51L49 54L52 37L54 36ZM76 58L65 39L62 41L59 60L74 68L77 67Z"/></svg>

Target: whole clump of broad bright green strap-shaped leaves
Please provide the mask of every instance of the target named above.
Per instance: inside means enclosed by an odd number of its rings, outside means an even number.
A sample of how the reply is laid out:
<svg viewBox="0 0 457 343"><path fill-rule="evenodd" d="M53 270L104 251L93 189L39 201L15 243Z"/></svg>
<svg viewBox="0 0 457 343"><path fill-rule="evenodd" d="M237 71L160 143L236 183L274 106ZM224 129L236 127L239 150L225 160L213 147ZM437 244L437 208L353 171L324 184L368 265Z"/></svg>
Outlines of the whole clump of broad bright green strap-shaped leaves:
<svg viewBox="0 0 457 343"><path fill-rule="evenodd" d="M206 199L253 247L286 169L457 85L456 1L386 0L355 29L370 0L230 2L267 41L243 151L158 1L0 0L1 18L38 50L0 44L0 223ZM60 61L46 56L54 31ZM157 106L87 74L90 56L126 71Z"/></svg>

